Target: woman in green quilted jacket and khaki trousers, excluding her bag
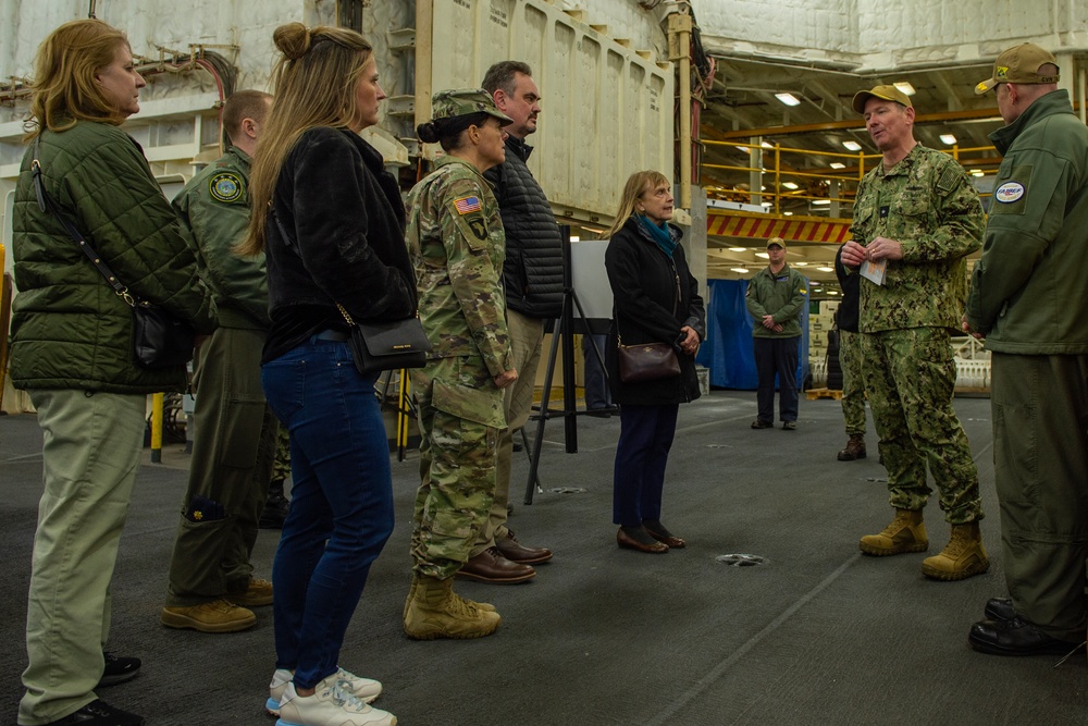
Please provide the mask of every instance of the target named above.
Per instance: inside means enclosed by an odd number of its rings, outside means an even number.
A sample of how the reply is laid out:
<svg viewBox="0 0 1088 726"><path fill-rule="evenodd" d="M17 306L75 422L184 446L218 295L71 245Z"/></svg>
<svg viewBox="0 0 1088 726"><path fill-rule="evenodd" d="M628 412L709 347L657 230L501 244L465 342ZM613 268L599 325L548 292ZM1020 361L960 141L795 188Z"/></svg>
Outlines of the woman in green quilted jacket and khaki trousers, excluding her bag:
<svg viewBox="0 0 1088 726"><path fill-rule="evenodd" d="M124 34L101 21L65 23L38 48L28 148L13 214L11 377L42 431L26 616L24 726L143 724L95 688L136 675L139 660L103 652L110 580L144 441L147 394L178 391L185 367L148 370L133 357L133 316L48 208L46 195L128 288L198 332L211 298L143 150L120 125L139 111L144 78Z"/></svg>

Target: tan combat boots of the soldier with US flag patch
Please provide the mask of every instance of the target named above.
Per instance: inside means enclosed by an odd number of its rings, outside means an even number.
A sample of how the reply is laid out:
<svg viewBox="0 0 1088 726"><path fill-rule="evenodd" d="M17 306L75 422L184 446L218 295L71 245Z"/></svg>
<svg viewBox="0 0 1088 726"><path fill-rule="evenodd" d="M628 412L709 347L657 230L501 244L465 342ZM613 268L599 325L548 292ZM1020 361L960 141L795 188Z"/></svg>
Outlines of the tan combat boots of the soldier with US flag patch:
<svg viewBox="0 0 1088 726"><path fill-rule="evenodd" d="M405 633L416 640L482 638L495 632L498 613L454 594L453 579L415 578L405 613Z"/></svg>

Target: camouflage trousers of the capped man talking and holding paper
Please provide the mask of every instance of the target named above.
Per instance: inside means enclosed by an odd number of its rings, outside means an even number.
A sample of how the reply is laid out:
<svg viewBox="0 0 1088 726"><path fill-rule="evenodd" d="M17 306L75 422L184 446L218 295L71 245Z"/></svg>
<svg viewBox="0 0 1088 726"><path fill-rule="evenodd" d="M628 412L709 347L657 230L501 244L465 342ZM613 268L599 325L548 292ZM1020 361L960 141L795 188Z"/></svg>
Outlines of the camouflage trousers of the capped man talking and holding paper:
<svg viewBox="0 0 1088 726"><path fill-rule="evenodd" d="M952 407L955 362L949 333L911 328L862 335L863 383L880 435L890 502L897 509L922 509L940 491L950 524L982 518L978 470L970 444Z"/></svg>

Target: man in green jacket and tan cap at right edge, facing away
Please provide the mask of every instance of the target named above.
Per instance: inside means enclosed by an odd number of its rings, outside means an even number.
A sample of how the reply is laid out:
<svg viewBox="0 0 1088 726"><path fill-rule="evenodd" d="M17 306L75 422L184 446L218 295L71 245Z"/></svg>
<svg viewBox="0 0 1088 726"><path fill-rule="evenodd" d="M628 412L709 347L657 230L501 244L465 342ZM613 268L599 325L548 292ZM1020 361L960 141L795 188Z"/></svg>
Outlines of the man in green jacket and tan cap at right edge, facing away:
<svg viewBox="0 0 1088 726"><path fill-rule="evenodd" d="M1058 61L1023 44L992 77L1004 157L965 330L991 352L993 473L1011 599L986 603L970 645L1064 654L1085 640L1088 598L1088 128L1058 88Z"/></svg>

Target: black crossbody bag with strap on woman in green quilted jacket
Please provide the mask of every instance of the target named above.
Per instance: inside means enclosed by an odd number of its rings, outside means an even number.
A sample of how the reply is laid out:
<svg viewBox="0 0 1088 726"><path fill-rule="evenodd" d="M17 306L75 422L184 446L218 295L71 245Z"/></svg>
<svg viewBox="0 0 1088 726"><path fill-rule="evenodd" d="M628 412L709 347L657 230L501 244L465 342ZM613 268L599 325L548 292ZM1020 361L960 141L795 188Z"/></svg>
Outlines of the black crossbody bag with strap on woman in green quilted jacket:
<svg viewBox="0 0 1088 726"><path fill-rule="evenodd" d="M196 332L191 325L178 320L163 308L151 305L147 300L134 296L128 292L113 271L106 266L102 258L95 248L84 238L83 233L75 229L75 225L64 217L57 202L46 194L46 187L41 183L41 163L38 161L38 138L34 139L34 161L30 164L30 174L34 176L34 192L38 197L38 207L41 211L50 211L67 230L79 249L98 270L99 274L106 278L106 282L123 299L133 311L133 359L140 368L151 370L158 368L172 368L184 366L193 359L193 347L196 341Z"/></svg>

